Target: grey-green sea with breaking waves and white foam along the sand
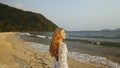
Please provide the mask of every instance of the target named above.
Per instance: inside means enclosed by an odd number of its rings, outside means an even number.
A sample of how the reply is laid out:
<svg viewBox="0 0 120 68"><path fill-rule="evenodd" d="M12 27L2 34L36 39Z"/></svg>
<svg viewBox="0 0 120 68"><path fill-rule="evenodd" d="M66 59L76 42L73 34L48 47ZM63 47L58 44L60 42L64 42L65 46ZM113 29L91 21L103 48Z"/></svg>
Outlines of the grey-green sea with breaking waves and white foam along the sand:
<svg viewBox="0 0 120 68"><path fill-rule="evenodd" d="M16 35L38 50L48 51L53 32ZM120 68L120 31L66 31L68 56L80 62Z"/></svg>

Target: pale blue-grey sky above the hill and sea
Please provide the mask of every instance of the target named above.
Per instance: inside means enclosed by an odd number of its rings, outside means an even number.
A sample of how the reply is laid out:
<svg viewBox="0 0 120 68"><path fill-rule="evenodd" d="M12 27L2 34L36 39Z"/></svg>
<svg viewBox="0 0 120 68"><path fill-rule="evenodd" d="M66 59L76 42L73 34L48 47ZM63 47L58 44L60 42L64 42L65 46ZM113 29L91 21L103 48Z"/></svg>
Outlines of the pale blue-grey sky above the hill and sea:
<svg viewBox="0 0 120 68"><path fill-rule="evenodd" d="M68 31L120 28L120 0L0 0L37 12Z"/></svg>

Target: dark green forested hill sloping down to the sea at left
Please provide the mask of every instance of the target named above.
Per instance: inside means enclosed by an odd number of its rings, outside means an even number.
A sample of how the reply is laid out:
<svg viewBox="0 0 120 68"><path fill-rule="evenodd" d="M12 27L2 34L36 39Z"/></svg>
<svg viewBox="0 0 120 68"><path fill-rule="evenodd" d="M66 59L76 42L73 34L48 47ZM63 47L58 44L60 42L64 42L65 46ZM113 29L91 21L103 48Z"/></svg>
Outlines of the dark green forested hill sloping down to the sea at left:
<svg viewBox="0 0 120 68"><path fill-rule="evenodd" d="M57 27L42 14L23 11L0 3L0 32L53 31Z"/></svg>

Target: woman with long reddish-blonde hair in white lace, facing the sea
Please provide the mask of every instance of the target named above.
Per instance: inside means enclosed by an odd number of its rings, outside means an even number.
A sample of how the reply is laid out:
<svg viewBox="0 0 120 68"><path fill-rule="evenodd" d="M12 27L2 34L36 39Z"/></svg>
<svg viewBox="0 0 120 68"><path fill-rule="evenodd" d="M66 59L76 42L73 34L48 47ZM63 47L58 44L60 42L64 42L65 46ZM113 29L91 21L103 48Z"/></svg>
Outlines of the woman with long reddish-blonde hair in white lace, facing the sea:
<svg viewBox="0 0 120 68"><path fill-rule="evenodd" d="M52 36L50 54L53 57L53 68L68 68L67 45L63 43L66 34L63 28L57 28Z"/></svg>

